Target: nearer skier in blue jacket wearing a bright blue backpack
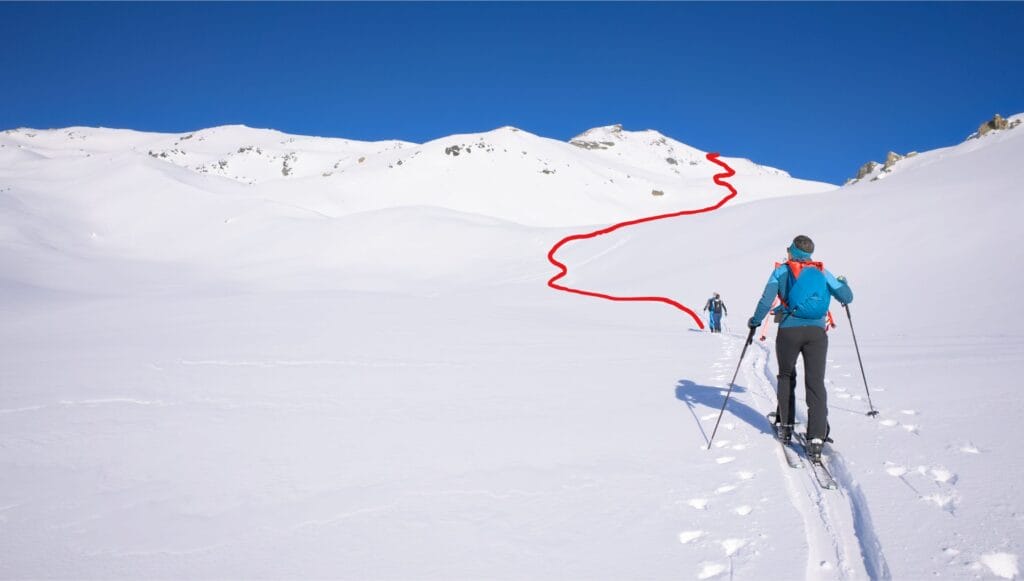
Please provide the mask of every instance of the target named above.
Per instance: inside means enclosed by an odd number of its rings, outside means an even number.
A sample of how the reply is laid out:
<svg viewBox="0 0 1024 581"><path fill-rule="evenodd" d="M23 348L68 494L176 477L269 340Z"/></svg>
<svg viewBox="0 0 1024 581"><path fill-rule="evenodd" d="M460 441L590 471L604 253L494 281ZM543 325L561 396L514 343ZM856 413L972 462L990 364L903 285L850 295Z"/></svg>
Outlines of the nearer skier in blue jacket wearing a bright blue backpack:
<svg viewBox="0 0 1024 581"><path fill-rule="evenodd" d="M814 242L806 236L793 239L786 262L768 278L754 317L748 326L756 329L771 309L777 296L780 304L772 310L778 322L775 355L778 359L779 439L793 435L794 391L797 358L804 356L804 385L807 389L807 454L820 461L821 448L828 438L828 403L825 392L825 358L828 352L828 303L836 297L842 304L853 301L846 279L836 278L821 262L811 261Z"/></svg>

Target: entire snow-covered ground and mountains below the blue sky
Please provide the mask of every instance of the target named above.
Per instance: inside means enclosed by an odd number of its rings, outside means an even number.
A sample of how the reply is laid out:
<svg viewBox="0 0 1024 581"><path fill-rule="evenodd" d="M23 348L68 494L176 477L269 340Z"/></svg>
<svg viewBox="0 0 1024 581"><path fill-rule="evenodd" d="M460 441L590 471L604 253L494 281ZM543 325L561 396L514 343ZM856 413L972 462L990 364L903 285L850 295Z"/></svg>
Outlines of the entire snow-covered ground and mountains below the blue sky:
<svg viewBox="0 0 1024 581"><path fill-rule="evenodd" d="M73 131L0 138L0 576L1020 574L1024 129L813 196L773 198L799 181L724 158L738 203L559 252L580 288L697 308L721 292L722 335L545 286L548 250L585 230L568 224L724 194L654 132L317 141L286 176L280 158L243 171L250 152L201 171L247 143L287 155L276 133L204 153ZM148 155L175 147L194 163ZM342 151L366 159L317 174ZM881 411L837 309L835 492L769 435L770 339L706 451L797 234L850 280Z"/></svg>

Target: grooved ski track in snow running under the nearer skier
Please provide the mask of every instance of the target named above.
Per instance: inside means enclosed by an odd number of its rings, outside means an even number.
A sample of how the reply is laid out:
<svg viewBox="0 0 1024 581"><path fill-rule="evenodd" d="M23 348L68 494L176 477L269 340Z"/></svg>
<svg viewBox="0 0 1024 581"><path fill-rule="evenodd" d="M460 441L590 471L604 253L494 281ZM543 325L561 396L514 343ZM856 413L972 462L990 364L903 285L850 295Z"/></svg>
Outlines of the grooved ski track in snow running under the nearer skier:
<svg viewBox="0 0 1024 581"><path fill-rule="evenodd" d="M744 366L744 375L750 385L756 385L766 401L774 404L776 382L769 368L771 351L761 343L758 347L749 349L754 357ZM762 412L767 414L768 410ZM806 425L806 412L801 413L798 409L797 419ZM768 421L767 418L765 421ZM791 468L784 462L780 449L776 454L779 469L785 474L790 498L804 522L808 547L804 577L891 579L882 544L871 523L867 499L842 455L834 449L829 451L828 468L839 490L825 491L806 466Z"/></svg>

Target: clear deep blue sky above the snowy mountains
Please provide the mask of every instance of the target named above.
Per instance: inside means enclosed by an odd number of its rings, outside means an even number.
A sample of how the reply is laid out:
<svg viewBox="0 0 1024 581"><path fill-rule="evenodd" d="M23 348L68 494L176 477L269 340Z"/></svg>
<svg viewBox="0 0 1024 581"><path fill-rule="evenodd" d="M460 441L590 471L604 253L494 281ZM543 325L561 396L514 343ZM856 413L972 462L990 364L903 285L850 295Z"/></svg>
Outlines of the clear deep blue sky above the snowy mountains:
<svg viewBox="0 0 1024 581"><path fill-rule="evenodd" d="M0 3L0 128L653 128L839 182L1024 112L1021 3Z"/></svg>

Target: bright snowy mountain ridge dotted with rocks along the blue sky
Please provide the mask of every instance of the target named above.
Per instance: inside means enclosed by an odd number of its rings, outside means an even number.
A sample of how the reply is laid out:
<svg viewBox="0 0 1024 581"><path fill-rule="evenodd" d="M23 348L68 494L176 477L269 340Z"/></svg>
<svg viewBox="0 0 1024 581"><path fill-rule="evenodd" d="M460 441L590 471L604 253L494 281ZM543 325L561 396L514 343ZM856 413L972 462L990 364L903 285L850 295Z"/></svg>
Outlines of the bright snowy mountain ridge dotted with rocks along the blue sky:
<svg viewBox="0 0 1024 581"><path fill-rule="evenodd" d="M580 147L585 136L614 147ZM836 188L749 160L723 159L736 170L740 202ZM657 132L618 126L595 128L569 142L502 127L422 144L306 137L238 125L183 134L15 129L0 134L0 162L7 176L42 172L69 182L121 171L117 167L123 164L158 162L327 215L439 206L530 225L600 223L719 196L709 188L719 168L703 152ZM208 183L202 188L226 188Z"/></svg>

